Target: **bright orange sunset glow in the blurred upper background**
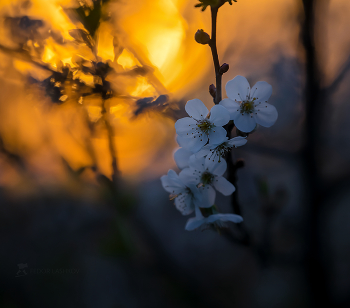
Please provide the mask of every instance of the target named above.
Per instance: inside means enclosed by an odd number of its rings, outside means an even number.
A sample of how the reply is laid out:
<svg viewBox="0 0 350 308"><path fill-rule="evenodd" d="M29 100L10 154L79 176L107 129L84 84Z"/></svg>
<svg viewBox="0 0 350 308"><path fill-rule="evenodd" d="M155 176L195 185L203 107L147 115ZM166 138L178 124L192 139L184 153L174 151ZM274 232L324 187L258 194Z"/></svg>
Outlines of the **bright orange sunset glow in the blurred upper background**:
<svg viewBox="0 0 350 308"><path fill-rule="evenodd" d="M113 128L122 175L151 178L173 167L174 120L153 111L135 117L135 101L162 94L188 100L195 98L188 93L197 93L208 106L211 104L207 93L208 85L214 82L210 48L194 41L197 29L211 31L209 10L203 13L194 9L195 1L188 0L110 1L108 18L97 29L96 45L91 50L69 34L72 29L84 29L78 18L71 20L67 14L67 8L78 5L76 1L32 0L27 7L21 3L1 1L1 18L27 15L42 20L44 26L38 30L40 39L27 39L28 53L24 56L0 49L0 134L7 149L23 155L40 176L47 170L54 178L64 178L62 158L73 169L91 166L96 159L99 170L110 176L101 96L90 93L81 97L69 85L71 92L62 93L60 101L52 103L43 87L28 85L27 79L29 74L43 81L52 71L60 72L68 65L74 79L92 91L96 80L89 71L79 70L78 62L86 61L86 67L92 67L92 61L108 62L115 72L106 80L116 96L106 101L106 116ZM332 4L333 9L336 6ZM226 4L219 11L217 37L220 61L231 67L224 83L237 74L267 71L277 51L298 56L298 9L294 0L242 0L232 7ZM6 27L1 23L0 44L20 50L23 42ZM345 51L342 53L345 56ZM250 65L242 68L247 59ZM136 67L147 69L143 74L133 74ZM164 152L166 156L161 155ZM4 177L19 181L11 168L0 175L0 183L6 182Z"/></svg>

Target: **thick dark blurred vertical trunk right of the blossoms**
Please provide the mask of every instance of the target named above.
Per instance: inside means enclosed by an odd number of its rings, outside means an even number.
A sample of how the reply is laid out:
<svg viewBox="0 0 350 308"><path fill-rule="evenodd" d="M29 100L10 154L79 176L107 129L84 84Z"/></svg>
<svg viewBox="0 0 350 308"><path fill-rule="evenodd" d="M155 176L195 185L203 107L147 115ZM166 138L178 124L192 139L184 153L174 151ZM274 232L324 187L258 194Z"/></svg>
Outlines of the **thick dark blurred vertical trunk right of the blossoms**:
<svg viewBox="0 0 350 308"><path fill-rule="evenodd" d="M325 107L325 98L321 95L321 72L319 69L316 49L316 16L318 1L303 0L304 20L302 22L301 39L306 56L305 84L305 126L304 146L302 149L302 164L304 169L306 199L309 205L306 218L306 252L304 266L309 281L312 306L331 306L328 277L325 265L322 263L320 238L320 213L323 183L318 169L318 145L320 142L320 125Z"/></svg>

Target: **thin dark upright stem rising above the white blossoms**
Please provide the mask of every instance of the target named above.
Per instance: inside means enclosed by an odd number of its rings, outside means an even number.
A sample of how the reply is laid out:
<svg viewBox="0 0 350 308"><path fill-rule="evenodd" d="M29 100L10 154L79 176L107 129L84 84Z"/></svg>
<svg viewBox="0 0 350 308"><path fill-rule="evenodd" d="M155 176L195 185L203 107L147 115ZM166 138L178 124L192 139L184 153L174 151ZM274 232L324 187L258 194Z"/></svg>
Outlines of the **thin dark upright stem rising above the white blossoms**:
<svg viewBox="0 0 350 308"><path fill-rule="evenodd" d="M220 63L219 63L219 56L218 56L218 50L216 47L216 20L218 15L218 7L211 7L211 39L209 42L209 46L211 49L211 53L213 56L214 61L214 68L215 68L215 79L216 79L216 95L214 99L214 103L217 105L222 100L222 75L219 73L220 70Z"/></svg>

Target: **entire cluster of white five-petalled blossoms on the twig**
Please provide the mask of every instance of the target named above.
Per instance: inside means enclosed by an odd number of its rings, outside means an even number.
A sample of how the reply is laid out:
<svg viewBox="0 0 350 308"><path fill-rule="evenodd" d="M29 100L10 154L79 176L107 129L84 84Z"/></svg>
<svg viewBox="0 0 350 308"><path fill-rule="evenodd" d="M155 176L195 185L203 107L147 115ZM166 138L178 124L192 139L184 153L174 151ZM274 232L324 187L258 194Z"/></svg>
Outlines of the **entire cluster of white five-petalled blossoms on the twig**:
<svg viewBox="0 0 350 308"><path fill-rule="evenodd" d="M235 191L223 177L226 155L247 143L241 136L229 139L223 126L232 120L238 130L249 133L257 124L269 127L277 120L276 108L267 103L272 94L267 82L259 81L250 88L245 77L236 76L226 84L226 94L228 98L210 111L199 99L188 101L185 110L189 117L175 123L180 148L174 159L181 172L169 170L161 182L183 215L195 212L185 227L189 231L207 224L243 221L239 215L218 213L215 206L216 191L224 196Z"/></svg>

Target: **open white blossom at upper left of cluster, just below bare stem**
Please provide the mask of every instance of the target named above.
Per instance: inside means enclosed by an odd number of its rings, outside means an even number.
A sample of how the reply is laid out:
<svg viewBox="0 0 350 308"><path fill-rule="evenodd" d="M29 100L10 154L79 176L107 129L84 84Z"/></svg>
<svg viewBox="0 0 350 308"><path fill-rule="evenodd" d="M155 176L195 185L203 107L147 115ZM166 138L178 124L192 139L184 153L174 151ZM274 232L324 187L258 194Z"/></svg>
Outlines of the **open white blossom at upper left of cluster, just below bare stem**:
<svg viewBox="0 0 350 308"><path fill-rule="evenodd" d="M175 123L177 138L180 146L198 152L207 142L216 142L226 136L226 130L222 127L230 120L227 109L215 105L208 108L199 99L193 99L186 103L185 110L190 117L179 119Z"/></svg>

